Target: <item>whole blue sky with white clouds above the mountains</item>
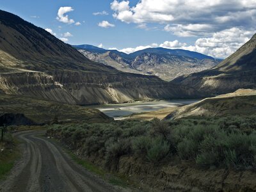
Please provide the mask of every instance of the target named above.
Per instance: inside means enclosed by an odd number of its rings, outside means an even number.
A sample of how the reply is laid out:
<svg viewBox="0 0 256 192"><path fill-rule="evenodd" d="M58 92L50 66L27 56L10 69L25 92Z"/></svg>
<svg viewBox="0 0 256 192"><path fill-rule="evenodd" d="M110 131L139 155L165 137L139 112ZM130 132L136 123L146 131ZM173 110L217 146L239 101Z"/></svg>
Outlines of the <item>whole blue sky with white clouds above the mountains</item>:
<svg viewBox="0 0 256 192"><path fill-rule="evenodd" d="M63 42L126 53L148 47L227 58L256 33L255 0L0 0Z"/></svg>

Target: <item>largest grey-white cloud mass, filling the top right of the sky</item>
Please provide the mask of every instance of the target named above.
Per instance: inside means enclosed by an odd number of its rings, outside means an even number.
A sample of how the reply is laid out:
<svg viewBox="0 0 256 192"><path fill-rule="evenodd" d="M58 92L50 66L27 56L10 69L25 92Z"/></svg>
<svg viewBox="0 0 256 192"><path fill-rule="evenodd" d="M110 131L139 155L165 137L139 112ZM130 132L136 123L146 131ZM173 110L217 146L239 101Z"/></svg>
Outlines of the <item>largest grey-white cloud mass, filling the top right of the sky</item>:
<svg viewBox="0 0 256 192"><path fill-rule="evenodd" d="M179 36L207 36L231 28L255 29L256 1L141 0L113 1L113 17L127 23L165 24Z"/></svg>

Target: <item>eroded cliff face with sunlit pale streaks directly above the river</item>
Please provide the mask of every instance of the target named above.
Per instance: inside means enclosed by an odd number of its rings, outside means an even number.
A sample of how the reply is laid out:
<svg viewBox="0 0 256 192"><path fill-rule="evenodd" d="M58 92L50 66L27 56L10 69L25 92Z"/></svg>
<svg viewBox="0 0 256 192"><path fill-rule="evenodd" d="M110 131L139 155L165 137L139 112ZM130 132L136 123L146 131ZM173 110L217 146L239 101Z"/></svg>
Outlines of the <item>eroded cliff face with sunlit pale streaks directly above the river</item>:
<svg viewBox="0 0 256 192"><path fill-rule="evenodd" d="M193 97L195 90L159 81L154 76L56 72L56 81L68 90L79 104L127 102L132 100ZM79 83L78 83L79 82Z"/></svg>

